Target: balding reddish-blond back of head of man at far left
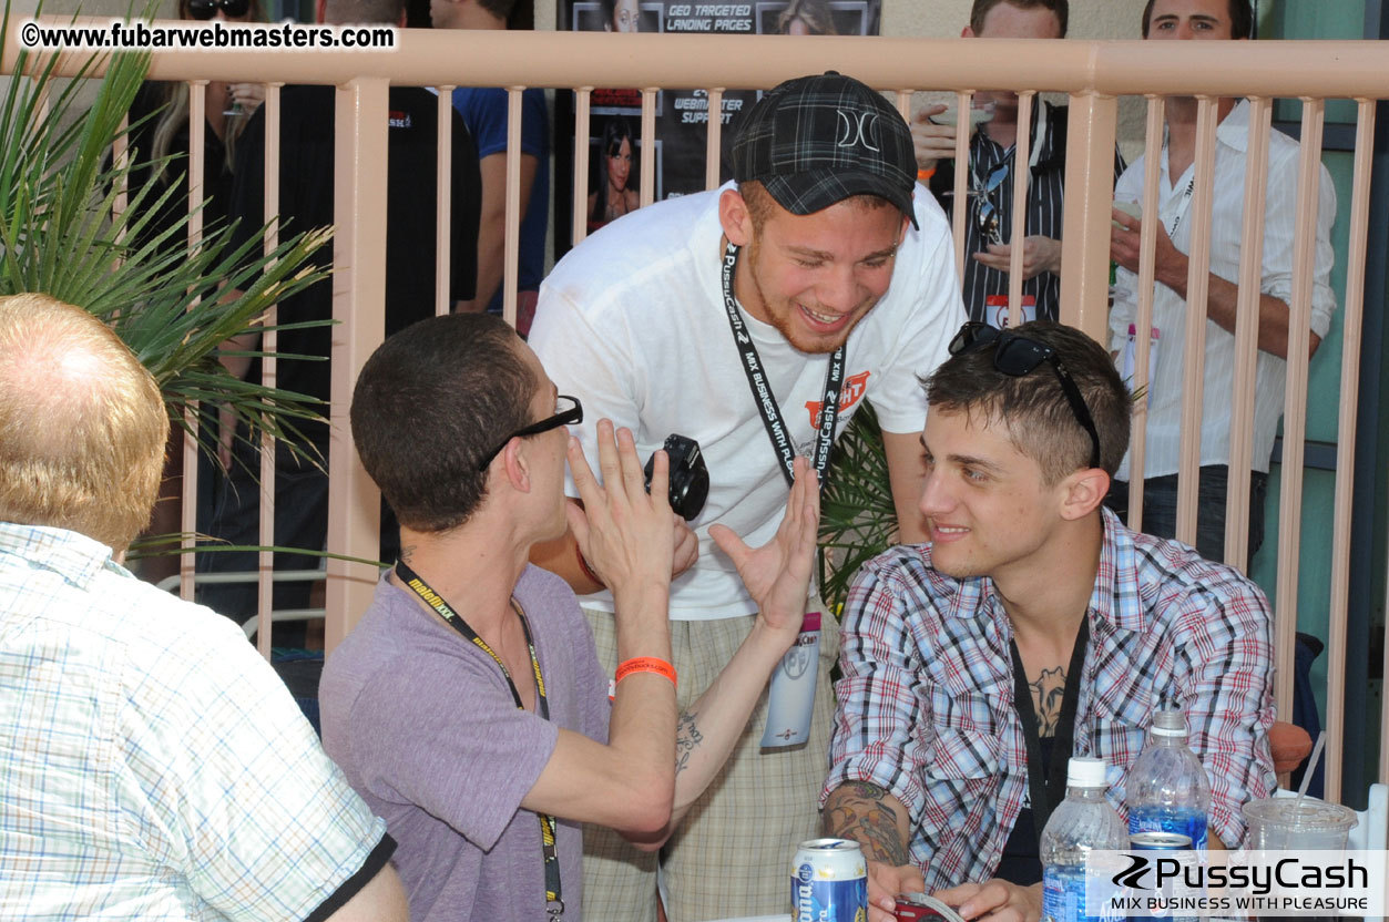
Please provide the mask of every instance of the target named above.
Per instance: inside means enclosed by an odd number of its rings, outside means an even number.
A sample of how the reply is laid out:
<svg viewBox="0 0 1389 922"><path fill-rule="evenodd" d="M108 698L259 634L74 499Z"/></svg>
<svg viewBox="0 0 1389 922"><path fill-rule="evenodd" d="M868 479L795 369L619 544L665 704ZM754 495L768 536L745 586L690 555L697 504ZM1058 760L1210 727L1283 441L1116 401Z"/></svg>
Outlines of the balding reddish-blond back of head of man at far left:
<svg viewBox="0 0 1389 922"><path fill-rule="evenodd" d="M110 326L47 294L0 297L0 519L125 550L168 430L158 385Z"/></svg>

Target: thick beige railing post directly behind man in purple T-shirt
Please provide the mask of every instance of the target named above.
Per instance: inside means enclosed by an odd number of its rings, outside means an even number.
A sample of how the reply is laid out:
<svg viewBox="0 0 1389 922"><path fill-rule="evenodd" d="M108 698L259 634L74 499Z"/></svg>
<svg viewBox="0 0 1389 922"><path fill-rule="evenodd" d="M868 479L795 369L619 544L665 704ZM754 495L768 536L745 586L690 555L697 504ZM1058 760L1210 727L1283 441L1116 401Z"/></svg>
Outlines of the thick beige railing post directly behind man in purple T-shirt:
<svg viewBox="0 0 1389 922"><path fill-rule="evenodd" d="M347 421L357 371L386 329L386 118L389 86L357 78L338 87L333 161L332 424L328 449L328 546L350 557L381 553L381 494L361 468ZM376 568L328 560L329 650L371 604Z"/></svg>

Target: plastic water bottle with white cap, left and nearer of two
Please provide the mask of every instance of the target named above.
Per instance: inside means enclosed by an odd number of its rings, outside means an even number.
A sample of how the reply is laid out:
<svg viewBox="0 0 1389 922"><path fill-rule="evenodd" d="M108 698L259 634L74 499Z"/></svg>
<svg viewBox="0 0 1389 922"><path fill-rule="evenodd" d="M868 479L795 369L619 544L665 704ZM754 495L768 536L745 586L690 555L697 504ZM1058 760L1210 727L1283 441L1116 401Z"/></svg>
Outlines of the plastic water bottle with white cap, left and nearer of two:
<svg viewBox="0 0 1389 922"><path fill-rule="evenodd" d="M1065 768L1065 800L1042 830L1042 922L1090 922L1085 912L1085 858L1096 850L1128 847L1128 830L1104 798L1103 758L1072 758ZM1107 883L1093 873L1092 887ZM1122 918L1122 915L1120 916Z"/></svg>

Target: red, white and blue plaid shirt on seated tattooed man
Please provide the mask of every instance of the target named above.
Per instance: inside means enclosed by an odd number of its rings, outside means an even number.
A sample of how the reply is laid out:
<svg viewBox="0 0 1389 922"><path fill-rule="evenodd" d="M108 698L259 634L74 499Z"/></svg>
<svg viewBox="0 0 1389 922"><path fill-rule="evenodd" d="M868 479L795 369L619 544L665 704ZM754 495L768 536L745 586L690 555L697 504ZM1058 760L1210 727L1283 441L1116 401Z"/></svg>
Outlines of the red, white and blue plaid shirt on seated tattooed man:
<svg viewBox="0 0 1389 922"><path fill-rule="evenodd" d="M1275 785L1268 603L1238 571L1103 515L1074 754L1110 764L1108 798L1126 818L1124 785L1151 716L1181 708L1211 782L1211 832L1233 846L1240 805ZM993 876L1028 805L1011 637L992 582L936 572L929 546L874 560L845 607L821 798L864 780L900 800L928 891Z"/></svg>

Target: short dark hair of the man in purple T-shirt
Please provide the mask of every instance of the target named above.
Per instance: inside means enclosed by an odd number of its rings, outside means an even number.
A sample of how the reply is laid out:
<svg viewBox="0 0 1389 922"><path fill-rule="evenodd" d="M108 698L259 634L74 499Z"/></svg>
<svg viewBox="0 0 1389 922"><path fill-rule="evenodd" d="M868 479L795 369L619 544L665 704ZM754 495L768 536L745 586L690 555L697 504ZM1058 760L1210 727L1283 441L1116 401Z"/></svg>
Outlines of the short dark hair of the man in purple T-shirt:
<svg viewBox="0 0 1389 922"><path fill-rule="evenodd" d="M490 314L413 324L372 353L351 396L363 467L406 528L446 532L486 497L478 462L531 421L539 382Z"/></svg>

